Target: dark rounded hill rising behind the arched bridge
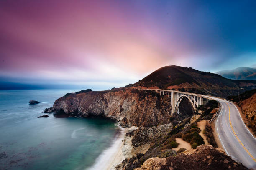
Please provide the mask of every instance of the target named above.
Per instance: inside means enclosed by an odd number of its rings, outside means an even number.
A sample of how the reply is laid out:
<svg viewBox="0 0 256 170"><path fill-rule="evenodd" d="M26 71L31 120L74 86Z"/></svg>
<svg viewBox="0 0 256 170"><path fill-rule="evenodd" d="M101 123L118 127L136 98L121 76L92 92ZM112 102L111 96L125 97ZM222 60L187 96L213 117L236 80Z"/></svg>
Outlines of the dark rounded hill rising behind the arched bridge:
<svg viewBox="0 0 256 170"><path fill-rule="evenodd" d="M255 85L256 81L253 80L230 80L218 74L198 71L191 67L172 65L152 72L133 84L133 87L171 89L227 97L237 95L238 86L251 90Z"/></svg>

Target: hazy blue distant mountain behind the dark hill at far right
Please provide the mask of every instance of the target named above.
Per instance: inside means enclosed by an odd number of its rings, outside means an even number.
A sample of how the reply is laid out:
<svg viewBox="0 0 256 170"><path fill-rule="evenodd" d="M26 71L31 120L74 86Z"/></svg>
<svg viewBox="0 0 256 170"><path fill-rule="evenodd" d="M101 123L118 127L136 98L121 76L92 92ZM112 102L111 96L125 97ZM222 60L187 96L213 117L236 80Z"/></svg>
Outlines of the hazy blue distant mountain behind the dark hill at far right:
<svg viewBox="0 0 256 170"><path fill-rule="evenodd" d="M219 71L216 74L233 80L256 80L256 68L251 67L238 67L234 70Z"/></svg>

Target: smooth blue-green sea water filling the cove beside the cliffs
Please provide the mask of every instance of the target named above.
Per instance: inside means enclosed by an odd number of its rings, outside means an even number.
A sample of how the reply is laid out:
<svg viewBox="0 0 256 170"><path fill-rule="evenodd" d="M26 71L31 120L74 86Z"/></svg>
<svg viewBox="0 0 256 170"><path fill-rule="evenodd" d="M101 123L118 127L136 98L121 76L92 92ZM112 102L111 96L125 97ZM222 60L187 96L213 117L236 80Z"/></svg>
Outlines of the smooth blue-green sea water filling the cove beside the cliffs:
<svg viewBox="0 0 256 170"><path fill-rule="evenodd" d="M0 169L84 170L113 143L118 127L100 118L43 115L67 92L0 90ZM41 103L28 105L29 100Z"/></svg>

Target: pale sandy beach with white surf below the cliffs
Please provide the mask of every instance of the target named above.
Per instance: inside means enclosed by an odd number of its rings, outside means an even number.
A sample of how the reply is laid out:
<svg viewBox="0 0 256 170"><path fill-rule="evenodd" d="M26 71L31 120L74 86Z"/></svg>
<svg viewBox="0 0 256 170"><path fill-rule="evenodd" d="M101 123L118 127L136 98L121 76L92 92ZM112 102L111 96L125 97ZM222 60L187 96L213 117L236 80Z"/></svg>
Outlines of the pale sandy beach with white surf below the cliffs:
<svg viewBox="0 0 256 170"><path fill-rule="evenodd" d="M122 148L128 128L122 128L119 125L118 128L121 132L115 137L110 148L104 150L95 160L95 163L86 170L115 170L115 166L122 163L125 159Z"/></svg>

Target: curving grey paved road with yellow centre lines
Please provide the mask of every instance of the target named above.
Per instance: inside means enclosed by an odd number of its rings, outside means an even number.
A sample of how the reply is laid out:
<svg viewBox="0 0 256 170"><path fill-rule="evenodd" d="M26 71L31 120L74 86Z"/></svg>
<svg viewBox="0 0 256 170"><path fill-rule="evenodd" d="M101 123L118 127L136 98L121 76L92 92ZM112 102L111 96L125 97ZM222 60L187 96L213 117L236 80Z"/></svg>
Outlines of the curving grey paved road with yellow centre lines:
<svg viewBox="0 0 256 170"><path fill-rule="evenodd" d="M222 106L215 120L215 130L226 153L247 168L256 170L256 138L246 128L236 105L212 98L218 100Z"/></svg>

